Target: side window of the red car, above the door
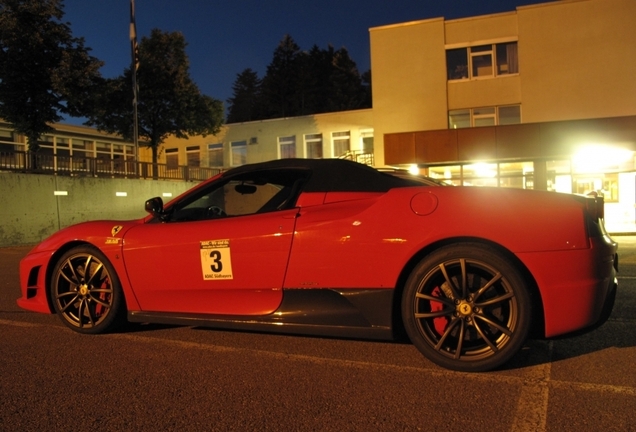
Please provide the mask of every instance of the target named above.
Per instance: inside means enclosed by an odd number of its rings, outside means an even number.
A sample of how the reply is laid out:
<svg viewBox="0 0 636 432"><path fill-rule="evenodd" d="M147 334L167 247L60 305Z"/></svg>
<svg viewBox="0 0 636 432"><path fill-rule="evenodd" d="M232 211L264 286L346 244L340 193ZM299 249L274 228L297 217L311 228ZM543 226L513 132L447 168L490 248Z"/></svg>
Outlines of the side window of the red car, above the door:
<svg viewBox="0 0 636 432"><path fill-rule="evenodd" d="M308 173L277 170L222 179L171 209L170 222L243 216L293 206Z"/></svg>

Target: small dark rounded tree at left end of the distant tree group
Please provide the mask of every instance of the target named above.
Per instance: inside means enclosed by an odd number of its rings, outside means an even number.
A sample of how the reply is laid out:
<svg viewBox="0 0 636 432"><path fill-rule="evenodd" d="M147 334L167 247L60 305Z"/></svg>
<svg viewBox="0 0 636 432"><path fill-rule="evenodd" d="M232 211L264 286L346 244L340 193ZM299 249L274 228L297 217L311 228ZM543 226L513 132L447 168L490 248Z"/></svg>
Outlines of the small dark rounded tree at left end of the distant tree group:
<svg viewBox="0 0 636 432"><path fill-rule="evenodd" d="M256 72L247 68L236 76L232 86L233 96L227 100L228 123L239 123L259 118L261 80Z"/></svg>

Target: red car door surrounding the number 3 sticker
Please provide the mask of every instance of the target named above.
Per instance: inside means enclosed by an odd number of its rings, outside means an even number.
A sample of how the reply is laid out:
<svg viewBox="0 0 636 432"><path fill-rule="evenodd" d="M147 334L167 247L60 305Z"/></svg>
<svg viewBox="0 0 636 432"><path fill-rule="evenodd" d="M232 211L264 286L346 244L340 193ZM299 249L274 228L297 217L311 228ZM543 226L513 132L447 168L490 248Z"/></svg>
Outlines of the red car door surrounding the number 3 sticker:
<svg viewBox="0 0 636 432"><path fill-rule="evenodd" d="M297 213L291 209L132 228L126 233L123 256L141 310L239 315L273 312L282 300ZM201 242L225 239L231 251L232 278L205 280Z"/></svg>

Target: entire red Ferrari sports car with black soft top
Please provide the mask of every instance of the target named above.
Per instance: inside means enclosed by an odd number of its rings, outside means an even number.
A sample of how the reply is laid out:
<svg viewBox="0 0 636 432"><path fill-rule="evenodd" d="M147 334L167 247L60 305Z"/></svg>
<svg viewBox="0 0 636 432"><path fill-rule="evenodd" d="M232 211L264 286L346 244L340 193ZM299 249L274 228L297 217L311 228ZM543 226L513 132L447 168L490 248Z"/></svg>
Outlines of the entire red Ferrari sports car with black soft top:
<svg viewBox="0 0 636 432"><path fill-rule="evenodd" d="M603 199L445 187L339 159L245 165L133 221L65 228L20 264L31 311L82 333L126 321L391 339L497 368L533 334L602 324L617 244Z"/></svg>

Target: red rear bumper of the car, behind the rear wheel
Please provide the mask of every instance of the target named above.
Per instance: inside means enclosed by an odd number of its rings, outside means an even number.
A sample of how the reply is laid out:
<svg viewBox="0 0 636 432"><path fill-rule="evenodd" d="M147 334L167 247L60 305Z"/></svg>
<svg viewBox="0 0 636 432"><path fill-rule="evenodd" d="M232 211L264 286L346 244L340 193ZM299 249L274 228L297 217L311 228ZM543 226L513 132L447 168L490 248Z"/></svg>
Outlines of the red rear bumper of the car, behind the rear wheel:
<svg viewBox="0 0 636 432"><path fill-rule="evenodd" d="M596 328L612 312L617 290L618 245L604 235L591 238L590 246L518 255L537 282L546 337Z"/></svg>

